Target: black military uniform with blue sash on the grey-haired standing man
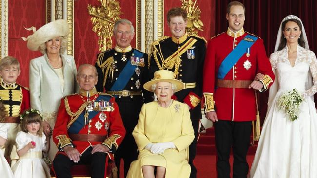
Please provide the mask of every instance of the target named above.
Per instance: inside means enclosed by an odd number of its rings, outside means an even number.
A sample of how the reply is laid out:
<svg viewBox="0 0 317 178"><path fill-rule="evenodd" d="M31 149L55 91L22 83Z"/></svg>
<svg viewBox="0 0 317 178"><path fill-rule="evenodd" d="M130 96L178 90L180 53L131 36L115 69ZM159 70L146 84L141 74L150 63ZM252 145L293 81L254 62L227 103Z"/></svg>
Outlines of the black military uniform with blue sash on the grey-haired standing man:
<svg viewBox="0 0 317 178"><path fill-rule="evenodd" d="M98 72L97 91L116 97L126 135L115 155L115 163L124 160L124 175L128 173L130 163L137 160L137 145L132 131L138 123L143 105L142 90L144 78L148 75L148 55L137 49L127 47L123 52L115 47L97 55ZM119 171L118 171L119 175ZM119 177L119 176L118 176Z"/></svg>

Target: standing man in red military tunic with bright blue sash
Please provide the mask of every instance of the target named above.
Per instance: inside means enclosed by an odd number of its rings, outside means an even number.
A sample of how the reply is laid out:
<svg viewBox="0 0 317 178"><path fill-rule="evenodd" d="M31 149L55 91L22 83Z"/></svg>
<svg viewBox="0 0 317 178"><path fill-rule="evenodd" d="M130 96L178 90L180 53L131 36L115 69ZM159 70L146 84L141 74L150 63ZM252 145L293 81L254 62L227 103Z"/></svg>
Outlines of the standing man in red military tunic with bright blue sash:
<svg viewBox="0 0 317 178"><path fill-rule="evenodd" d="M252 121L256 120L256 90L262 92L274 80L263 40L243 30L245 7L238 1L227 6L229 28L209 40L204 70L203 95L206 118L214 122L218 178L246 178ZM264 75L255 80L257 73Z"/></svg>

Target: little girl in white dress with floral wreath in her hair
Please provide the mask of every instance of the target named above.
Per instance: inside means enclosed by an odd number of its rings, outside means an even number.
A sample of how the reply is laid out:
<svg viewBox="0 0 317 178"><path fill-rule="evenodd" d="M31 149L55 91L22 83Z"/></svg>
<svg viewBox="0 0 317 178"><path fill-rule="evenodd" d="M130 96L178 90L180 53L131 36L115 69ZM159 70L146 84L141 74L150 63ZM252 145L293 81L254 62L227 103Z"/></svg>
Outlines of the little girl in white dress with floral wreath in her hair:
<svg viewBox="0 0 317 178"><path fill-rule="evenodd" d="M42 159L46 136L40 112L35 109L20 115L21 130L16 137L19 160L12 166L14 178L50 178L50 169Z"/></svg>

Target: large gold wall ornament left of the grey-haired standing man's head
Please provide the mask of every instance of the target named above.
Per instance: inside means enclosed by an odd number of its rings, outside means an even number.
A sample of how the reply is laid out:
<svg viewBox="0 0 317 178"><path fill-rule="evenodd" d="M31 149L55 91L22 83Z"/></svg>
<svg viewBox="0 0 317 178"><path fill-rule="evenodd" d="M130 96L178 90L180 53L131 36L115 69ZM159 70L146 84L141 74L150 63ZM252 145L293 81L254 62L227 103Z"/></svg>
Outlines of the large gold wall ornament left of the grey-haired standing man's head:
<svg viewBox="0 0 317 178"><path fill-rule="evenodd" d="M98 7L88 5L88 13L93 24L93 31L99 36L99 51L112 48L112 36L114 24L120 19L122 12L117 0L98 0Z"/></svg>

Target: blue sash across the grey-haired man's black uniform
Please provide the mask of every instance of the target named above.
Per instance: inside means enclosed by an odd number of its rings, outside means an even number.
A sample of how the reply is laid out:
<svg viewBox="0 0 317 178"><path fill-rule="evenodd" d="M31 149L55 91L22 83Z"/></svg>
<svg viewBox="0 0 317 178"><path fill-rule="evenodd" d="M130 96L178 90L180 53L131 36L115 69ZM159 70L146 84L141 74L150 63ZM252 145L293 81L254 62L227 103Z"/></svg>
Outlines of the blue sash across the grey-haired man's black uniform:
<svg viewBox="0 0 317 178"><path fill-rule="evenodd" d="M143 57L143 53L139 52L138 50L133 50L135 57ZM124 87L129 82L131 76L133 75L135 69L137 66L132 65L130 61L127 62L121 73L119 74L117 80L112 85L110 91L121 91L124 89ZM118 95L115 95L114 97L117 98Z"/></svg>

